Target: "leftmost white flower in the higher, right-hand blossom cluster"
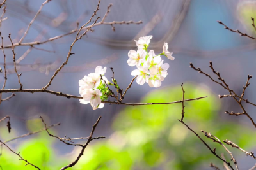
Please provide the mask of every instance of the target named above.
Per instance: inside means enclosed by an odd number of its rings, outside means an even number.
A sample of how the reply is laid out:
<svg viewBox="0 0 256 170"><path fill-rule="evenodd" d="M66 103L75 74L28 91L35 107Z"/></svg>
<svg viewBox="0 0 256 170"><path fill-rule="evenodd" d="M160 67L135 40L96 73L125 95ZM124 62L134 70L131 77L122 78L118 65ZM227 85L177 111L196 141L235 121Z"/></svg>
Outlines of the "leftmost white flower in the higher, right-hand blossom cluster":
<svg viewBox="0 0 256 170"><path fill-rule="evenodd" d="M127 60L127 64L129 66L140 66L141 63L145 62L146 55L147 53L143 49L138 49L137 52L130 50L128 53L129 59Z"/></svg>

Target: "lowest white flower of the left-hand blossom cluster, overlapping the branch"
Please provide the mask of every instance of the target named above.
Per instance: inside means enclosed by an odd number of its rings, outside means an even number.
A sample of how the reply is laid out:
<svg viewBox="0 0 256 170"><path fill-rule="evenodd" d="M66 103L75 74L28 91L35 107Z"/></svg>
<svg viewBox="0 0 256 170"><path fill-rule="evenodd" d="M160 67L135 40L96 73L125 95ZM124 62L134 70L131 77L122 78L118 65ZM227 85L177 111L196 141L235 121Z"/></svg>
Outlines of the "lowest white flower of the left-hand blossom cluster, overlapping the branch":
<svg viewBox="0 0 256 170"><path fill-rule="evenodd" d="M95 90L89 89L87 92L83 93L83 100L86 102L86 104L90 102L93 110L95 110L101 104L100 96L102 96L102 92L100 92L99 89L95 89ZM80 101L80 103L82 102ZM101 108L103 106L101 106Z"/></svg>

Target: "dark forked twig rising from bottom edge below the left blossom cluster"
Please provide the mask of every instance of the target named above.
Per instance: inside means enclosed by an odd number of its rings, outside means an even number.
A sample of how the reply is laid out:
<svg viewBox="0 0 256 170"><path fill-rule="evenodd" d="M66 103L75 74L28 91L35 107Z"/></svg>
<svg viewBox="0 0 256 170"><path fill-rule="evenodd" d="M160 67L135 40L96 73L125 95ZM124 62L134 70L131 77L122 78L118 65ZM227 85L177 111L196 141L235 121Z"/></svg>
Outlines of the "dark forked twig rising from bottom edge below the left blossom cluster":
<svg viewBox="0 0 256 170"><path fill-rule="evenodd" d="M96 121L96 123L92 126L92 131L91 131L91 133L90 133L90 136L88 137L88 141L82 146L83 148L82 148L81 152L79 153L79 155L77 156L76 160L74 160L74 162L68 164L67 166L62 167L60 170L64 170L64 169L67 169L67 168L69 168L69 167L72 167L72 166L76 165L76 163L78 162L78 160L83 156L84 150L85 150L85 148L88 146L88 144L90 143L90 141L92 141L93 139L105 138L105 137L92 138L93 132L95 131L97 125L99 124L100 118L101 118L101 116L98 118L98 120Z"/></svg>

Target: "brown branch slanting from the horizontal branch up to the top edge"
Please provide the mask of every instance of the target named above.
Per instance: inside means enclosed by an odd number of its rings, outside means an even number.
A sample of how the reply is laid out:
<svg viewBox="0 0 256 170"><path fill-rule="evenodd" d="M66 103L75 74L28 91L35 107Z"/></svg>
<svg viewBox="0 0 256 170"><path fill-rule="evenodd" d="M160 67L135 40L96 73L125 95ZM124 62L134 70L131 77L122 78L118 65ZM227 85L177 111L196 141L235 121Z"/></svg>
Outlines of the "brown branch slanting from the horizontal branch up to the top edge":
<svg viewBox="0 0 256 170"><path fill-rule="evenodd" d="M82 25L79 29L79 31L77 32L76 34L76 38L74 39L73 43L70 45L70 48L69 48L69 51L68 51L68 55L67 55L67 59L65 62L63 62L63 64L55 71L55 73L53 74L52 78L50 79L49 83L47 83L47 85L45 85L45 87L42 88L42 90L46 90L52 83L52 80L54 79L54 77L61 71L61 69L67 65L68 63L68 59L69 57L74 54L72 53L72 48L74 46L74 44L76 43L77 40L81 39L85 34L86 32L88 32L92 27L93 25L95 25L95 23L97 22L97 20L99 20L100 17L97 17L97 19L95 20L95 22L93 22L93 24L91 25L91 27L89 27L83 34L81 34L81 36L79 36L79 33L82 31L83 27L85 27L87 24L89 24L91 21L92 21L92 18L96 15L97 11L99 10L99 3L100 3L100 0L97 4L97 8L96 10L93 12L93 15L91 16L90 20L88 20L88 22L86 22L86 24ZM79 36L79 37L78 37Z"/></svg>

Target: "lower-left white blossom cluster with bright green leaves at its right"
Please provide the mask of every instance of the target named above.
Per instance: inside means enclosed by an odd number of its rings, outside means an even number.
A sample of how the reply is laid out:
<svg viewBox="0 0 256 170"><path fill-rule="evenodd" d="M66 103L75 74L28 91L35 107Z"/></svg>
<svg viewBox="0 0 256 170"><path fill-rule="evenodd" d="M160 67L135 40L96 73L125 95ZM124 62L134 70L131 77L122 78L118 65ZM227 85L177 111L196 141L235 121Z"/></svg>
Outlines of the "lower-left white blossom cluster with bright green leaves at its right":
<svg viewBox="0 0 256 170"><path fill-rule="evenodd" d="M104 103L101 103L101 101L107 99L110 93L106 88L108 79L102 76L106 73L106 69L106 67L97 66L95 73L90 73L79 80L79 94L83 97L83 99L80 99L80 103L90 103L93 110L103 108Z"/></svg>

